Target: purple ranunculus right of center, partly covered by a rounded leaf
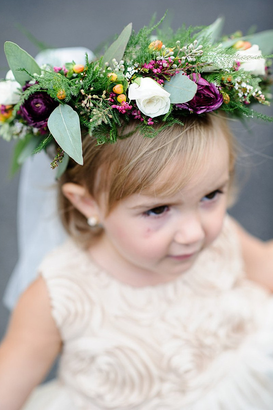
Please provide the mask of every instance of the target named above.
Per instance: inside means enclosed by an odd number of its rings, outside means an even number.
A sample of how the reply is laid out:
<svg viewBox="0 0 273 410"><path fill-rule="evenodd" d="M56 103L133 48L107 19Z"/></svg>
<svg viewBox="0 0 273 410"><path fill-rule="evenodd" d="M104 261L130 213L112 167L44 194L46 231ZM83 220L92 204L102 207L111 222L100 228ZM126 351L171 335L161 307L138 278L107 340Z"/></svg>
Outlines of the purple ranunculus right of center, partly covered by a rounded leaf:
<svg viewBox="0 0 273 410"><path fill-rule="evenodd" d="M176 104L178 108L201 114L202 112L214 111L222 105L223 96L214 84L209 83L200 74L193 73L188 77L197 84L197 92L193 99L187 103Z"/></svg>

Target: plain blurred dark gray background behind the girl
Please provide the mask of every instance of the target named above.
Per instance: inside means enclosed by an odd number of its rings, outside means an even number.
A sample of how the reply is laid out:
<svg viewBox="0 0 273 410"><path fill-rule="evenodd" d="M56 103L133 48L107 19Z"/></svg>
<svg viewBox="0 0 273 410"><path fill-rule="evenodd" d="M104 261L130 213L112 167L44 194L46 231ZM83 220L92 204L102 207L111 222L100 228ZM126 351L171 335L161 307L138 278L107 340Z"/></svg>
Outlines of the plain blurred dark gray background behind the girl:
<svg viewBox="0 0 273 410"><path fill-rule="evenodd" d="M1 0L0 78L8 69L3 52L6 40L17 43L35 56L38 48L18 28L27 28L52 47L85 46L91 50L133 22L138 31L154 12L160 19L168 8L173 28L208 25L224 15L224 32L251 26L257 31L273 28L272 0ZM268 115L273 109L258 107ZM246 130L239 122L232 128L243 147L239 158L241 193L231 213L251 233L262 239L273 237L273 124L249 121ZM12 143L0 140L0 338L9 312L1 303L7 280L17 259L16 201L19 175L8 176Z"/></svg>

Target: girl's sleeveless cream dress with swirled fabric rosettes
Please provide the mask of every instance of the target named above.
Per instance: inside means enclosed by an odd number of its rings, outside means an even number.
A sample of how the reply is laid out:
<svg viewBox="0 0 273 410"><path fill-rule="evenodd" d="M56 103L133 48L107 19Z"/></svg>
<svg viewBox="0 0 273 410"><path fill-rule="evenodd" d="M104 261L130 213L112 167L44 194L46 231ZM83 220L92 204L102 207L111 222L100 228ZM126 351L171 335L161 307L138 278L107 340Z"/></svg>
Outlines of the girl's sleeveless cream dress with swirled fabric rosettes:
<svg viewBox="0 0 273 410"><path fill-rule="evenodd" d="M172 282L121 283L71 240L39 272L64 348L24 410L273 409L273 302L246 279L228 216Z"/></svg>

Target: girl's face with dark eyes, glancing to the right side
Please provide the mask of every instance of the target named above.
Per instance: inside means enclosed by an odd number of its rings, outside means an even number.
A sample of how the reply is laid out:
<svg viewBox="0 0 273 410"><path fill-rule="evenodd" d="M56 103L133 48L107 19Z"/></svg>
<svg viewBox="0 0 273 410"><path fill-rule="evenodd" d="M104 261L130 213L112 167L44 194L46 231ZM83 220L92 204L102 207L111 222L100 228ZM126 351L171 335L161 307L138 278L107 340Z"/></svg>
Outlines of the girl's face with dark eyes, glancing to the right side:
<svg viewBox="0 0 273 410"><path fill-rule="evenodd" d="M229 187L229 153L223 136L206 158L172 197L134 194L106 217L102 212L104 233L90 250L94 259L134 286L167 282L190 269L222 229ZM173 164L173 174L168 170L160 179L169 178L171 184L182 160Z"/></svg>

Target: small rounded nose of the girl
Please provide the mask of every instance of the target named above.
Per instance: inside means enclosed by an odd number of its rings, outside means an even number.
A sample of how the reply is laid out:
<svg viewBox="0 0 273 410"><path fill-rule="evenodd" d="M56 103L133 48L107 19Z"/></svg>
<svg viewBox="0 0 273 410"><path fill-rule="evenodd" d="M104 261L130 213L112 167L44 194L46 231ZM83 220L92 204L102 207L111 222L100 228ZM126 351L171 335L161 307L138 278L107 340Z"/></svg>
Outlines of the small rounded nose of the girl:
<svg viewBox="0 0 273 410"><path fill-rule="evenodd" d="M183 245L200 242L205 238L202 222L197 214L185 215L176 228L174 241Z"/></svg>

